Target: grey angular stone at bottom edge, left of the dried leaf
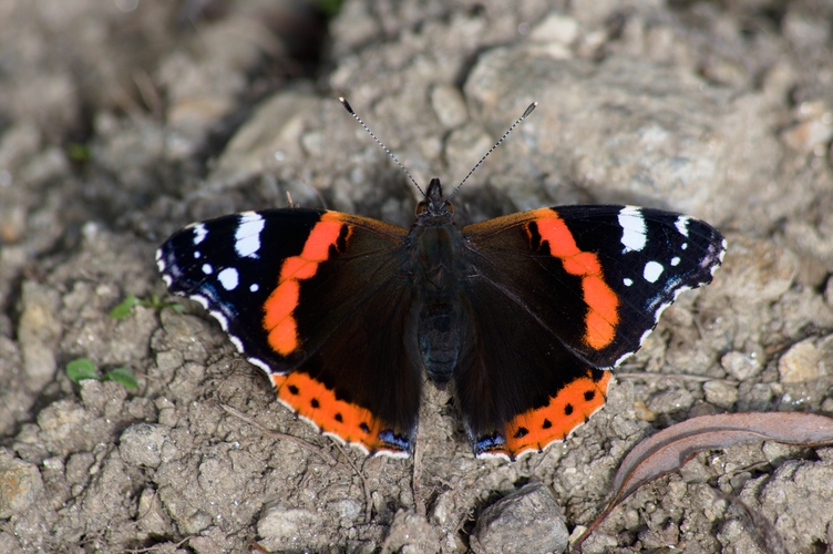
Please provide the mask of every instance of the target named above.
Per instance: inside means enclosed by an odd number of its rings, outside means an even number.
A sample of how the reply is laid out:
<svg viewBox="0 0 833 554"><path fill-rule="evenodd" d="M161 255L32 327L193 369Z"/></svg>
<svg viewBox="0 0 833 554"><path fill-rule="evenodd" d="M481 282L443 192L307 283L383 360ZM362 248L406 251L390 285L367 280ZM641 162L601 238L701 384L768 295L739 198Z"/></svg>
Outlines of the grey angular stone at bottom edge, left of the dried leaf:
<svg viewBox="0 0 833 554"><path fill-rule="evenodd" d="M477 554L564 552L569 533L552 492L533 482L483 511L471 547Z"/></svg>

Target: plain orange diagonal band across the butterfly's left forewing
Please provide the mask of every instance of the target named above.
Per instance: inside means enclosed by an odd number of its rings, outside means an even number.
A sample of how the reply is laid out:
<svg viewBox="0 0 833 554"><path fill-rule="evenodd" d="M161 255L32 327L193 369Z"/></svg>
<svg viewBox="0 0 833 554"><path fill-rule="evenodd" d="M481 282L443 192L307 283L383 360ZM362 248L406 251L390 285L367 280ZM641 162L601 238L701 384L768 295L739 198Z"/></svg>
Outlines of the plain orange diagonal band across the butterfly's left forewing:
<svg viewBox="0 0 833 554"><path fill-rule="evenodd" d="M339 247L346 227L341 214L327 212L312 227L298 256L291 256L280 266L278 286L264 302L264 328L269 334L269 346L280 356L288 356L300 347L295 309L300 298L301 281L315 277L318 266L330 257L330 247Z"/></svg>

